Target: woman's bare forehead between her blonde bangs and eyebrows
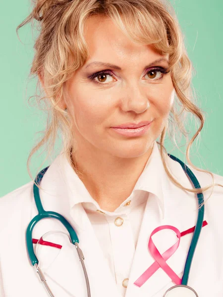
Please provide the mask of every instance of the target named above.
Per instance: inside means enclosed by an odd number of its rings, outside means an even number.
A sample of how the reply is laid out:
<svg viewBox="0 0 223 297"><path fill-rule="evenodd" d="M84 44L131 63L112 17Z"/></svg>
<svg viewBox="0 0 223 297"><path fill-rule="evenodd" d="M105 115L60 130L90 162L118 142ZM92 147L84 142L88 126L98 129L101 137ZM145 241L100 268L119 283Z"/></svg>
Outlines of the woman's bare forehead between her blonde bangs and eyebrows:
<svg viewBox="0 0 223 297"><path fill-rule="evenodd" d="M103 59L111 63L127 60L138 63L141 59L152 61L162 57L152 45L140 45L131 41L105 16L97 15L87 19L85 40L89 47L90 60Z"/></svg>

